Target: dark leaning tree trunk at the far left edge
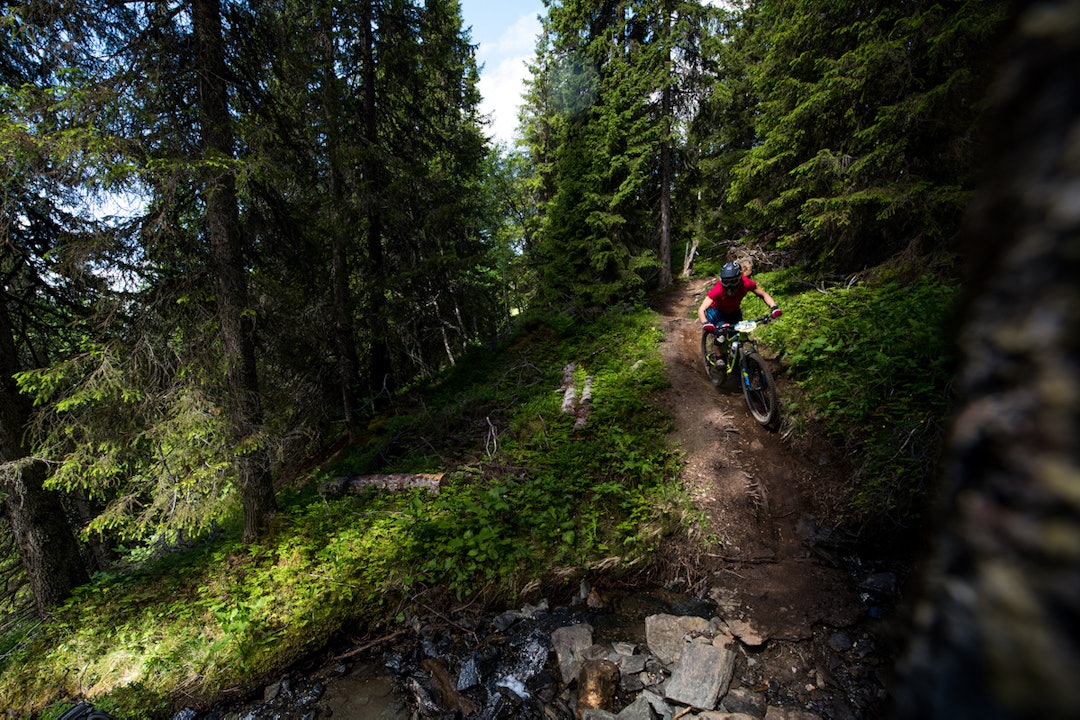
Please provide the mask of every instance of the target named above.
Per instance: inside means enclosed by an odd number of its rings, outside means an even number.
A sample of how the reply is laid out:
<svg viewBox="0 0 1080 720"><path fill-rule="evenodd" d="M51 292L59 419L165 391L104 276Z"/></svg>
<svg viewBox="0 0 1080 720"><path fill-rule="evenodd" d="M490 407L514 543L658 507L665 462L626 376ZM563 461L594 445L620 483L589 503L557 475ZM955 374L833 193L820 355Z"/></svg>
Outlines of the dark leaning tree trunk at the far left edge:
<svg viewBox="0 0 1080 720"><path fill-rule="evenodd" d="M15 385L18 370L11 318L0 301L0 463L28 454L23 434L31 408ZM36 460L27 460L18 470L0 472L3 508L40 615L90 581L59 495L43 488L45 475L44 463Z"/></svg>

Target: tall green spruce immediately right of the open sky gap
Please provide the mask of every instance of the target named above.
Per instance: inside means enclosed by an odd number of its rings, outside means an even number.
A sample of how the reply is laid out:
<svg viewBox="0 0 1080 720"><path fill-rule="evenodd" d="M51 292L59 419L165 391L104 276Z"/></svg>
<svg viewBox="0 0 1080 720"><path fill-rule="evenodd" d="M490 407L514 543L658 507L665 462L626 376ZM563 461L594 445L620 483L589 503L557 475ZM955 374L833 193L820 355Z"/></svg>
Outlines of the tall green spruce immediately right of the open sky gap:
<svg viewBox="0 0 1080 720"><path fill-rule="evenodd" d="M658 9L551 4L526 139L541 167L530 257L548 302L579 311L635 297L657 271L663 122Z"/></svg>

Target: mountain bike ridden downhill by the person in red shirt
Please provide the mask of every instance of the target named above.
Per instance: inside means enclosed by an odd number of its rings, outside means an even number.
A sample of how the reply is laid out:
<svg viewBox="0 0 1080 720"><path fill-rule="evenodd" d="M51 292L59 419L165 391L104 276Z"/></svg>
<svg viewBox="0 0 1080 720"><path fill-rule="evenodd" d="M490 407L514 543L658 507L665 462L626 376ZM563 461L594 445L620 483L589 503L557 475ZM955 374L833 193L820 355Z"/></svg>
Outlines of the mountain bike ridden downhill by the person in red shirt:
<svg viewBox="0 0 1080 720"><path fill-rule="evenodd" d="M766 427L780 416L780 399L777 383L765 358L757 351L757 342L750 334L759 324L768 323L769 315L757 320L744 320L734 325L721 325L716 331L701 334L701 356L705 362L705 373L713 384L720 385L727 378L728 368L739 371L746 407L754 419Z"/></svg>

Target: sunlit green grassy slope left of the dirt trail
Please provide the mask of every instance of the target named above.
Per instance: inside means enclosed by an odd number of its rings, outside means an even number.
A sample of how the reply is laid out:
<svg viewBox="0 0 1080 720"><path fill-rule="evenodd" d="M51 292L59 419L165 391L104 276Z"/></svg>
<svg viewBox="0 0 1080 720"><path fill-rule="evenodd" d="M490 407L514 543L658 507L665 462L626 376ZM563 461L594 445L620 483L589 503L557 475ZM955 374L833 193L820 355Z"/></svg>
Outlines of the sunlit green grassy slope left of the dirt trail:
<svg viewBox="0 0 1080 720"><path fill-rule="evenodd" d="M261 541L227 529L10 628L0 705L48 718L86 697L125 719L170 717L176 698L256 687L342 631L392 623L429 588L513 602L647 560L684 517L671 422L650 399L666 383L660 338L647 311L525 324L373 419L352 452L282 494ZM584 427L562 410L569 363L579 388L592 379ZM445 475L437 494L314 490L376 472Z"/></svg>

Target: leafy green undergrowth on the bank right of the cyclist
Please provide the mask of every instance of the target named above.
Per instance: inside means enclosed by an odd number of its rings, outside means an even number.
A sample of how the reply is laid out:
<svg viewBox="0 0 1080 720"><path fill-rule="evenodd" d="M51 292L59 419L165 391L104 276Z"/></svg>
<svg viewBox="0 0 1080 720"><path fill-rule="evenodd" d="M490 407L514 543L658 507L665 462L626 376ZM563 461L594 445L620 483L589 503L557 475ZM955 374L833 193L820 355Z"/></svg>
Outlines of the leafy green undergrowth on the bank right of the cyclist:
<svg viewBox="0 0 1080 720"><path fill-rule="evenodd" d="M786 398L787 422L823 427L852 460L853 524L916 521L949 411L958 288L908 268L816 287L799 277L764 276L784 316L760 337L799 390Z"/></svg>

